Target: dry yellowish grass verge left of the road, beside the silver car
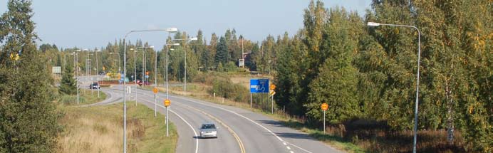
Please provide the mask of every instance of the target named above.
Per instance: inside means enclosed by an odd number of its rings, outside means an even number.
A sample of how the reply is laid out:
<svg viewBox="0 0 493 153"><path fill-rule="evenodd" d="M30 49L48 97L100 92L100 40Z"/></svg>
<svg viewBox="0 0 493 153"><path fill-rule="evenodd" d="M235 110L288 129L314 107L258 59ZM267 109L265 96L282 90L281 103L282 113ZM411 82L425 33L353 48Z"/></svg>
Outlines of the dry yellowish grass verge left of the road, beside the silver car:
<svg viewBox="0 0 493 153"><path fill-rule="evenodd" d="M82 93L82 92L81 92ZM79 105L99 102L104 93L82 94ZM75 102L73 101L75 97ZM59 120L64 131L58 137L56 152L123 152L123 104L95 107L76 106L76 95L63 95L58 110L64 112ZM132 102L130 102L132 103ZM127 105L128 152L175 152L176 127L170 123L166 137L165 116L154 117L145 105Z"/></svg>

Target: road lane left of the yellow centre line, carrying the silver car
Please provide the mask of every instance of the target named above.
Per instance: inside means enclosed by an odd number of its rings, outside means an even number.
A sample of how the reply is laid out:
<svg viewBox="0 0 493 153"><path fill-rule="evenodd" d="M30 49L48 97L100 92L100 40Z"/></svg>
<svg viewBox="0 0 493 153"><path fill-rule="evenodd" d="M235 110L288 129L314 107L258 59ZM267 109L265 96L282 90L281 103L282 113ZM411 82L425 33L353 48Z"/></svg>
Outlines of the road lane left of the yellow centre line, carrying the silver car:
<svg viewBox="0 0 493 153"><path fill-rule="evenodd" d="M123 96L123 92L118 88L102 88L102 90L112 93L113 97ZM130 94L130 100L134 100L134 96ZM162 105L164 99L165 95L157 96L157 111L162 114L166 113L165 107ZM137 102L154 110L154 94L150 91L137 90ZM135 103L127 103L127 105L131 107ZM170 122L173 122L177 127L179 136L176 152L241 152L237 139L227 131L226 127L218 124L214 119L178 104L169 108ZM199 126L204 122L213 122L219 127L217 139L199 139L196 137L196 134L199 135Z"/></svg>

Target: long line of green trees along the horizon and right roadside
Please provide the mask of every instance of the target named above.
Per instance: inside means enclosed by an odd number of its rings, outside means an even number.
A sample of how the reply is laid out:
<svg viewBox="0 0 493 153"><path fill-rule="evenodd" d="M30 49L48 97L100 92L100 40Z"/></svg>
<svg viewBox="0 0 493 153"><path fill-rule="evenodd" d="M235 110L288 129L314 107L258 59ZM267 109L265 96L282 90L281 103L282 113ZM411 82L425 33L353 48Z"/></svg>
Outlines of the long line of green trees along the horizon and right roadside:
<svg viewBox="0 0 493 153"><path fill-rule="evenodd" d="M170 78L180 81L185 77L185 52L187 79L193 79L199 70L242 70L237 60L243 50L246 68L274 75L276 104L291 115L321 122L320 105L327 102L326 119L333 125L365 119L386 122L392 130L412 130L418 33L414 28L367 23L416 26L421 32L418 129L458 130L469 151L491 152L492 15L493 4L486 0L373 0L365 14L310 1L303 28L291 37L288 33L269 35L254 42L228 29L224 36L212 33L208 41L199 31L197 41L178 42L180 46L172 46L169 55ZM190 38L185 32L172 37ZM147 45L139 40L127 48ZM157 52L157 63L164 63L165 48ZM68 50L73 49L62 53ZM123 58L123 42L108 43L99 50L106 59L100 65L118 71L115 60ZM127 76L133 75L136 58L137 78L141 78L142 54L137 52L135 57L127 51ZM146 50L146 56L154 59L154 51ZM52 63L61 65L55 61L62 56L47 57L56 57ZM79 63L84 66L81 59ZM151 73L152 65L154 60L147 60ZM158 70L165 70L163 66L157 64ZM158 71L158 79L163 73ZM154 80L153 75L150 78Z"/></svg>

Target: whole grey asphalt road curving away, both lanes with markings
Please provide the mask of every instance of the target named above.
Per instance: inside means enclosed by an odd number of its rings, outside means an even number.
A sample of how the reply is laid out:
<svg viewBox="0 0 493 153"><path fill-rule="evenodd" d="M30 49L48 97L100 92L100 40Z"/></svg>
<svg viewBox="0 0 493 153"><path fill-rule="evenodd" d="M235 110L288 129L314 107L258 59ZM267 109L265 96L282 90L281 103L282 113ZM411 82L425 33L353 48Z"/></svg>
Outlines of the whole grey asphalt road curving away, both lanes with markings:
<svg viewBox="0 0 493 153"><path fill-rule="evenodd" d="M101 88L101 91L110 96L95 105L123 101L123 91L118 85ZM162 103L165 96L165 93L157 94L157 111L162 114L165 114ZM341 152L256 112L179 95L169 96L170 122L176 125L179 134L177 152ZM127 98L133 101L135 93ZM154 93L137 89L137 102L154 109ZM127 105L131 107L135 103ZM204 122L212 122L219 127L217 139L196 137L199 126Z"/></svg>

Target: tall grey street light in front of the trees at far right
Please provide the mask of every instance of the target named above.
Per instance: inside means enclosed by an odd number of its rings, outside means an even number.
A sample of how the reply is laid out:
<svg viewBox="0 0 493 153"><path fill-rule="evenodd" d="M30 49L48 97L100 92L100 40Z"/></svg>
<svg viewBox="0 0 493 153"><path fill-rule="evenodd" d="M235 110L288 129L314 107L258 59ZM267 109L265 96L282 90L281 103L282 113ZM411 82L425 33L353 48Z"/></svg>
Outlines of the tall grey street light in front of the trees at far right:
<svg viewBox="0 0 493 153"><path fill-rule="evenodd" d="M413 128L414 138L412 141L412 152L416 152L416 142L417 142L417 105L419 104L419 94L420 94L420 55L421 55L421 31L416 26L399 25L399 24L385 24L385 23L375 23L368 22L368 26L403 26L408 28L415 28L417 31L417 74L416 74L416 102L415 102L415 124Z"/></svg>

